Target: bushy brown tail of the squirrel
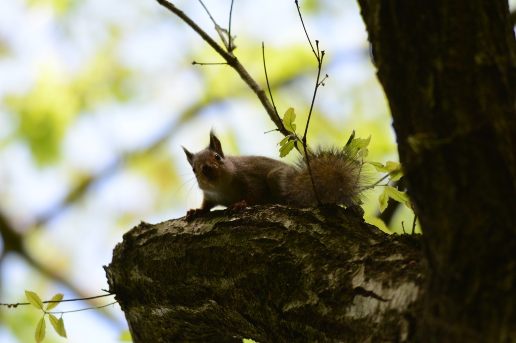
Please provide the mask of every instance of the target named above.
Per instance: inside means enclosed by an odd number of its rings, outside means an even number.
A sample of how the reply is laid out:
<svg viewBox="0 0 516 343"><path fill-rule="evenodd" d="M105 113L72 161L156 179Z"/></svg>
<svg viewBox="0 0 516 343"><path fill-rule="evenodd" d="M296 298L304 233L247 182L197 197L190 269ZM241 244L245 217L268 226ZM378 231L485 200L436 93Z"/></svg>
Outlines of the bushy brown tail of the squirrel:
<svg viewBox="0 0 516 343"><path fill-rule="evenodd" d="M317 148L310 158L310 167L317 195L322 203L337 203L346 207L362 203L364 187L370 182L363 162L343 147ZM285 175L283 197L288 203L314 206L314 195L308 167L301 159L297 170Z"/></svg>

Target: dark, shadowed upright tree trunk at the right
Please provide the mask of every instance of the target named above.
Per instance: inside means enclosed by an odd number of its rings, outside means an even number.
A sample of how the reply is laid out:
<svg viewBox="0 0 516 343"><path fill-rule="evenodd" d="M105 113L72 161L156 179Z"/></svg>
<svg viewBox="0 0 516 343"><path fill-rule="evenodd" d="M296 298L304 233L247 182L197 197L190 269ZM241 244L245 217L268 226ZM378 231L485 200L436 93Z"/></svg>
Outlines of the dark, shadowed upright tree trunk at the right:
<svg viewBox="0 0 516 343"><path fill-rule="evenodd" d="M421 341L516 341L507 0L359 0L429 269Z"/></svg>

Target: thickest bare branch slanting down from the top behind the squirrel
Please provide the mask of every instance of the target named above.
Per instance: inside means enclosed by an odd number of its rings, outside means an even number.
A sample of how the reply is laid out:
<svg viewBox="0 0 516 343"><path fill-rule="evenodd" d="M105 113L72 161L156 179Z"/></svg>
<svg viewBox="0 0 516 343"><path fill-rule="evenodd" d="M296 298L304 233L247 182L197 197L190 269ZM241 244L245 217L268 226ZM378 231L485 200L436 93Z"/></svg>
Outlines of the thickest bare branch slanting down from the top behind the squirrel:
<svg viewBox="0 0 516 343"><path fill-rule="evenodd" d="M183 13L183 11L179 10L173 4L169 3L167 0L156 0L160 5L170 10L175 15L179 16L181 20L183 20L188 26L190 26L194 31L198 33L201 38L206 41L215 51L222 56L224 60L228 62L228 65L234 68L234 70L240 75L240 77L244 80L244 82L251 88L251 90L256 94L262 106L267 111L271 121L276 124L278 130L284 135L289 135L288 130L283 127L283 123L278 119L276 115L276 111L272 107L267 94L265 91L260 88L260 86L254 81L254 79L249 75L249 73L245 70L244 66L240 64L238 59L230 52L226 52L219 44L217 44L209 35L204 32L195 22L193 22L188 16Z"/></svg>

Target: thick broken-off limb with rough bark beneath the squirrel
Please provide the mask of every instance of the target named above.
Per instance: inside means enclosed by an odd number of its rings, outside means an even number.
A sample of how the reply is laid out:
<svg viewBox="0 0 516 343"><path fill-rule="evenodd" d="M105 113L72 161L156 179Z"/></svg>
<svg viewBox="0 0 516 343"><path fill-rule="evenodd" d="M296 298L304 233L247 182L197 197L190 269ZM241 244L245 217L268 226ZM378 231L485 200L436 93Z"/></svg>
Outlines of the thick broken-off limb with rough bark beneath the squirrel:
<svg viewBox="0 0 516 343"><path fill-rule="evenodd" d="M418 241L360 207L255 206L142 223L105 269L134 342L405 342L423 294Z"/></svg>

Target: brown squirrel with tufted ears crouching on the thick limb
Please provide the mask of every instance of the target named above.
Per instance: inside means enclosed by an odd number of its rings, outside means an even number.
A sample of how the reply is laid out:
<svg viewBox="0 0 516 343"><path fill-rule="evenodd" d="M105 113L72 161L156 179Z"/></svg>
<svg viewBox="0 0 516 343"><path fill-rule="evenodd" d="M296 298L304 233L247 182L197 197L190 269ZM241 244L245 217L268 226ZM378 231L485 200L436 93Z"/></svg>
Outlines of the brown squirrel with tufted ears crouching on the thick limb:
<svg viewBox="0 0 516 343"><path fill-rule="evenodd" d="M259 204L317 204L303 159L292 166L262 156L225 156L213 129L204 150L191 153L182 148L203 192L201 207L187 211L186 221L208 213L216 205L223 205L228 214L234 214ZM363 162L353 157L346 146L319 148L309 162L322 203L336 202L345 207L362 203L367 179L361 173Z"/></svg>

